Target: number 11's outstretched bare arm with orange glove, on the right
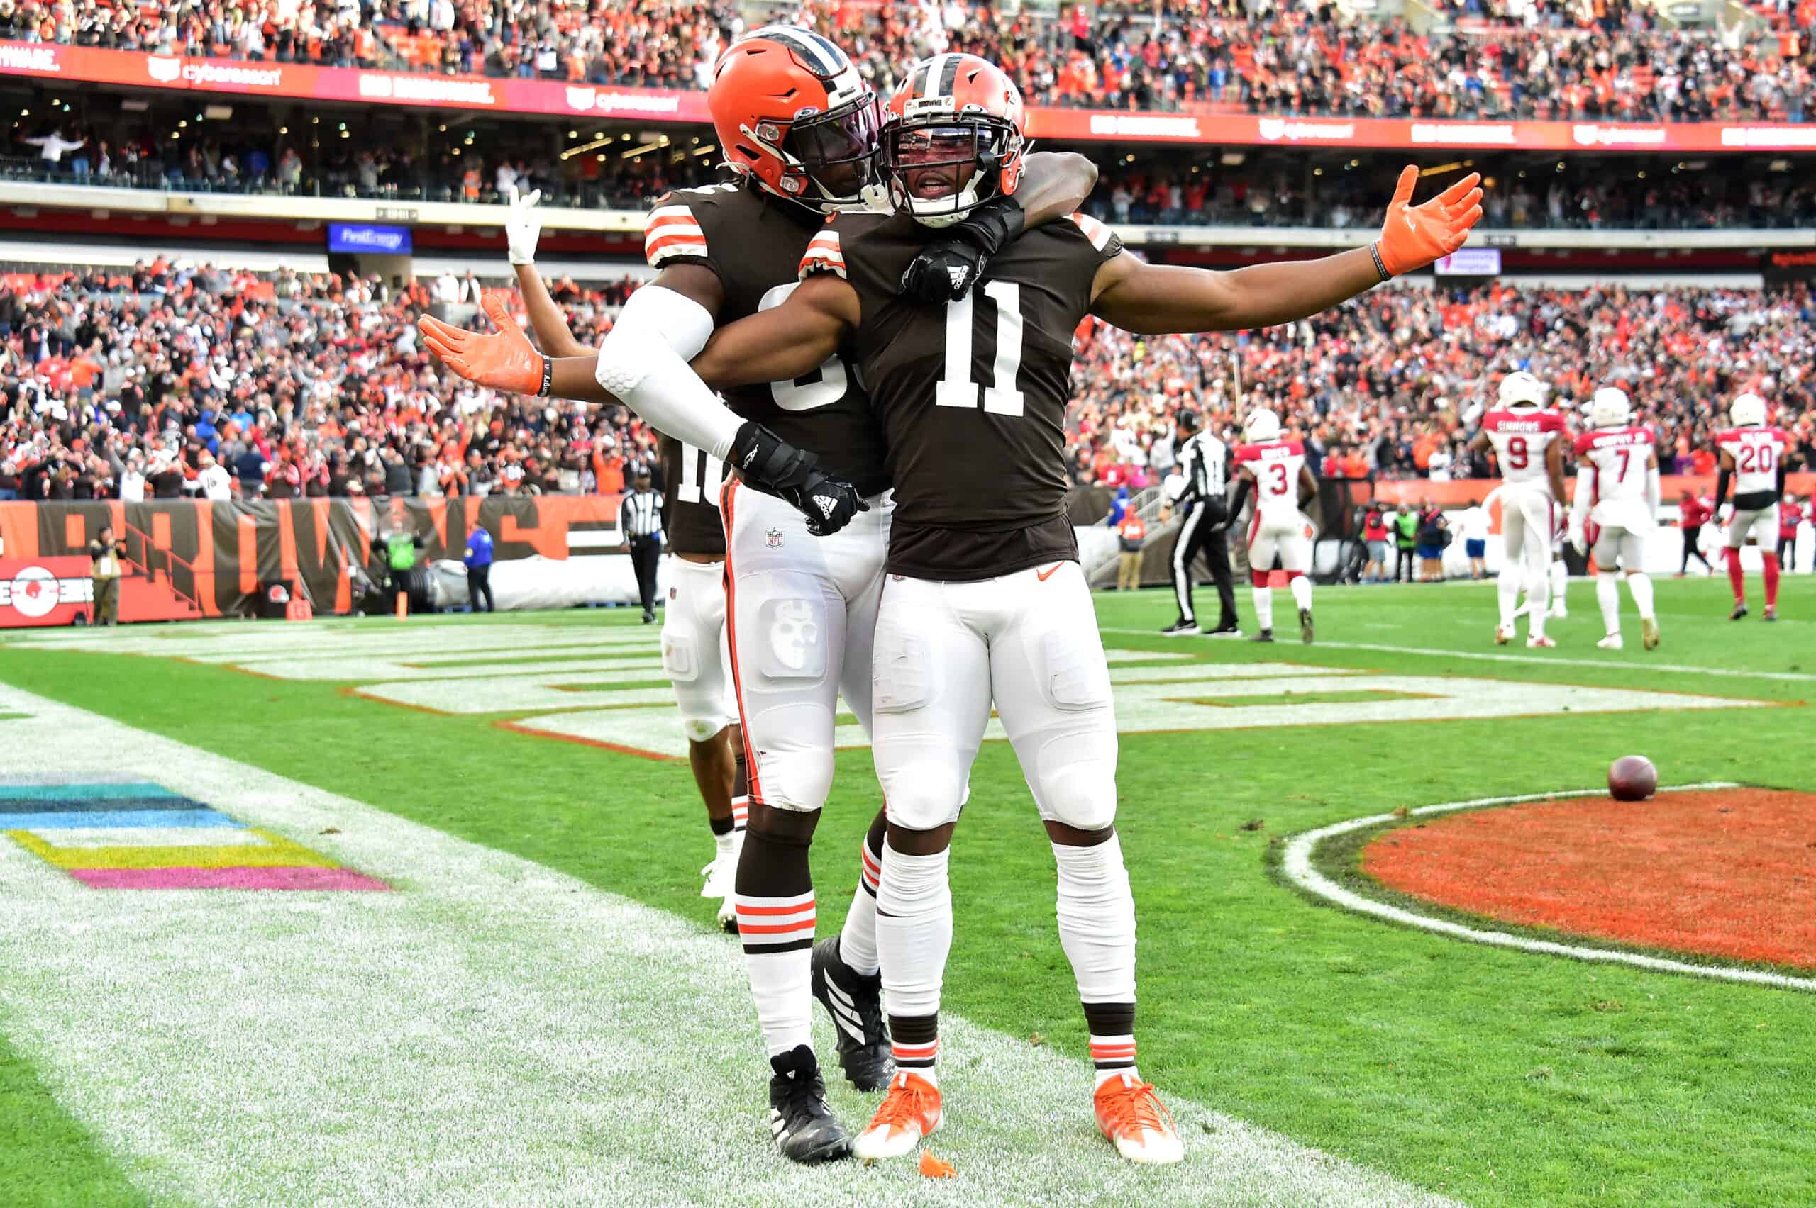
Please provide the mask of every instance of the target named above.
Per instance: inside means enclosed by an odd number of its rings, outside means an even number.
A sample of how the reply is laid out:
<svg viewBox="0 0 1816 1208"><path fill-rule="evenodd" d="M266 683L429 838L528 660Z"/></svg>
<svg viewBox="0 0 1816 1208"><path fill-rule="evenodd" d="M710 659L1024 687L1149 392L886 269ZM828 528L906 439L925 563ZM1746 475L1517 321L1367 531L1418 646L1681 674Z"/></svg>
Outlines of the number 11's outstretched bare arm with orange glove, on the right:
<svg viewBox="0 0 1816 1208"><path fill-rule="evenodd" d="M1409 205L1418 169L1407 165L1380 239L1320 259L1249 265L1233 272L1150 265L1124 252L1097 270L1091 314L1140 334L1231 332L1329 310L1389 278L1449 256L1482 218L1480 174Z"/></svg>

